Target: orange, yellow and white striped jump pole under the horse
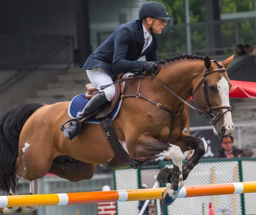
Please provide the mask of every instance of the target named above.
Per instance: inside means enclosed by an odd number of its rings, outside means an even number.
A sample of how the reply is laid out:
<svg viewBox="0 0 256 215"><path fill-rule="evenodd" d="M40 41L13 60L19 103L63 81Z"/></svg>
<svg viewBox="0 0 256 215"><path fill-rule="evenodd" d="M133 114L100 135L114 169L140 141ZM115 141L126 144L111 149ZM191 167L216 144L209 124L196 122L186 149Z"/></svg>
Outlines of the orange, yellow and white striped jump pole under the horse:
<svg viewBox="0 0 256 215"><path fill-rule="evenodd" d="M137 190L76 192L41 195L7 195L0 196L0 208L161 199L161 193L165 189L165 187L161 187ZM206 195L240 194L248 192L256 192L256 181L185 186L180 190L178 198Z"/></svg>

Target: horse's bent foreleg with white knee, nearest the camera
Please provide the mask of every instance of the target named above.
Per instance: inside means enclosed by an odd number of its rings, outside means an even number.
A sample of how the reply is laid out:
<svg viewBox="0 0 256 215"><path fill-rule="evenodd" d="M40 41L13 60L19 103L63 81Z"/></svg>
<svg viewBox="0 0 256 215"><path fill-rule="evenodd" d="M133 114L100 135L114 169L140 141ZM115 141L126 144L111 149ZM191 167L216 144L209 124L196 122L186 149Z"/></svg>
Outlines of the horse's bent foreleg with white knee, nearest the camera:
<svg viewBox="0 0 256 215"><path fill-rule="evenodd" d="M128 152L132 152L132 158L134 159L158 156L168 156L172 159L174 167L172 170L172 178L170 178L171 185L167 187L162 194L163 203L165 205L172 204L177 198L180 189L184 186L182 176L183 153L180 147L161 142L149 135L143 135L140 136L133 150L128 148Z"/></svg>

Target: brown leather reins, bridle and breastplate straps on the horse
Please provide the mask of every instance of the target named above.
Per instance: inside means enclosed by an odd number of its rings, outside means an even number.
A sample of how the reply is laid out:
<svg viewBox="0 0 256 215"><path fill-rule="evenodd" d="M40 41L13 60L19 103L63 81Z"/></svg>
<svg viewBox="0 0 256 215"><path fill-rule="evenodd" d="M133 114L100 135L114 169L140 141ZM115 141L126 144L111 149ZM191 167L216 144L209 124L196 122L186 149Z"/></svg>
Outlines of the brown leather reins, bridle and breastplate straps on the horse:
<svg viewBox="0 0 256 215"><path fill-rule="evenodd" d="M206 83L206 76L209 75L209 74L212 74L212 73L215 73L215 72L226 72L227 69L222 69L222 68L218 68L218 69L215 69L215 70L212 70L212 71L206 71L206 68L204 68L204 74L203 74L203 78L201 80L201 82L198 84L198 86L195 88L195 91L199 88L199 86L202 84L202 88L203 88L203 92L204 92L204 99L205 99L205 105L206 105L206 108L207 108L207 113L205 113L203 110L200 110L198 108L195 108L193 107L192 105L190 105L188 102L186 102L184 99L180 98L180 96L178 96L176 93L174 93L167 85L165 85L163 82L161 82L157 77L156 75L160 72L160 69L161 69L161 66L158 65L158 68L157 68L157 71L155 73L151 73L152 76L145 76L146 72L143 72L142 75L140 76L137 76L134 75L134 76L129 76L129 77L126 77L126 78L123 78L117 82L124 82L124 81L127 81L129 79L137 79L137 78L140 78L140 82L139 82L139 85L138 85L138 88L137 88L137 93L136 94L132 94L132 95L121 95L121 98L127 98L127 97L136 97L136 98L141 98L141 99L144 99L145 101L148 101L148 102L151 102L152 104L156 105L157 108L161 108L169 113L171 113L173 116L178 116L180 115L180 113L183 112L183 110L185 110L185 108L183 109L180 109L180 110L177 110L177 111L173 111L173 110L170 110L169 108L166 108L165 106L161 105L160 103L157 103L157 102L154 102L152 101L151 99L147 99L145 98L145 96L141 95L140 94L140 86L141 86L141 82L143 81L143 79L149 79L149 78L152 78L154 77L154 79L160 83L160 85L165 88L167 91L169 91L170 93L172 93L172 95L174 95L177 99L179 99L181 102L183 102L184 104L188 105L190 108L192 108L193 110L196 110L199 115L201 116L202 114L204 116L206 116L208 119L211 120L210 124L213 124L215 125L219 119L221 119L222 116L224 116L225 113L227 113L228 111L231 111L232 112L232 109L231 109L231 106L214 106L214 107L211 107L210 104L209 104L209 99L208 99L208 94L207 94L207 83ZM117 82L114 82L114 83L117 83ZM113 83L113 84L114 84ZM110 84L111 85L111 84ZM101 90L104 89L104 88L107 88L109 85L104 85L104 86L101 86ZM192 93L192 96L194 95L195 91ZM212 110L220 110L220 109L227 109L226 111L224 111L223 113L219 114L217 113L216 115L214 115L214 113L212 113ZM218 118L217 118L218 117Z"/></svg>

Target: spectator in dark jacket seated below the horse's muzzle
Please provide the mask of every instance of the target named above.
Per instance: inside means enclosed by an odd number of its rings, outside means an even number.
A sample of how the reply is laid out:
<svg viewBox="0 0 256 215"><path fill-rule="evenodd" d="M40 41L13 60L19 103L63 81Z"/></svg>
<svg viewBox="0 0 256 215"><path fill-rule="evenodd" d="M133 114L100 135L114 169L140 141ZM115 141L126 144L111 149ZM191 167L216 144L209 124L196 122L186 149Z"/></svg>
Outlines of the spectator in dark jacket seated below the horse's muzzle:
<svg viewBox="0 0 256 215"><path fill-rule="evenodd" d="M234 158L234 157L250 157L253 151L250 148L238 149L234 147L234 138L229 136L221 139L221 150L218 151L215 158Z"/></svg>

